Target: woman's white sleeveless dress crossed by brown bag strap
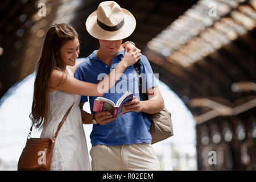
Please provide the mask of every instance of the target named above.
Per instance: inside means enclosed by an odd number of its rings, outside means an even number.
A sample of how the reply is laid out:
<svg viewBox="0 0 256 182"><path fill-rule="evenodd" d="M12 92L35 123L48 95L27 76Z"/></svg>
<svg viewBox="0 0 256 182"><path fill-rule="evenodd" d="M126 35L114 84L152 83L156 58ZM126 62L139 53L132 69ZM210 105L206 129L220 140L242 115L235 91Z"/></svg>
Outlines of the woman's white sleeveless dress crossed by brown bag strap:
<svg viewBox="0 0 256 182"><path fill-rule="evenodd" d="M69 75L73 76L67 68ZM56 133L57 127L75 101L67 119L57 135L53 148L51 170L90 170L88 148L80 112L80 98L61 90L49 93L48 123L43 128L40 138L50 138Z"/></svg>

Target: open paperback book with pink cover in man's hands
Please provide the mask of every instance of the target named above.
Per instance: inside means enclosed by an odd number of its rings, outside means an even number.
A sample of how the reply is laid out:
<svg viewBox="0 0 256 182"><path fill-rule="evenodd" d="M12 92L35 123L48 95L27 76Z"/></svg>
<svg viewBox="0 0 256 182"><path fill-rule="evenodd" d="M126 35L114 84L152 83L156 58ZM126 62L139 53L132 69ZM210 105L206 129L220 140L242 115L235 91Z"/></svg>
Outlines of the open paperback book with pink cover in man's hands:
<svg viewBox="0 0 256 182"><path fill-rule="evenodd" d="M117 104L114 104L114 102L108 98L97 97L93 103L93 111L100 112L108 110L114 117L117 117L119 114L123 114L123 105L131 100L133 100L133 93L131 92L123 94L117 101Z"/></svg>

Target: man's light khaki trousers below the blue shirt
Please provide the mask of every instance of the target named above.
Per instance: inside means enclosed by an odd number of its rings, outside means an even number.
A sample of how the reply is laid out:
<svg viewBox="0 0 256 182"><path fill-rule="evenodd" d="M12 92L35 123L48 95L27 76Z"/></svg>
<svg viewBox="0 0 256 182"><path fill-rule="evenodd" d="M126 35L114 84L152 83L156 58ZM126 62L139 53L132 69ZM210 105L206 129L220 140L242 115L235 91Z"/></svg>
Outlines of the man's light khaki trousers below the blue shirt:
<svg viewBox="0 0 256 182"><path fill-rule="evenodd" d="M93 171L159 171L160 164L150 143L122 146L97 145L90 150Z"/></svg>

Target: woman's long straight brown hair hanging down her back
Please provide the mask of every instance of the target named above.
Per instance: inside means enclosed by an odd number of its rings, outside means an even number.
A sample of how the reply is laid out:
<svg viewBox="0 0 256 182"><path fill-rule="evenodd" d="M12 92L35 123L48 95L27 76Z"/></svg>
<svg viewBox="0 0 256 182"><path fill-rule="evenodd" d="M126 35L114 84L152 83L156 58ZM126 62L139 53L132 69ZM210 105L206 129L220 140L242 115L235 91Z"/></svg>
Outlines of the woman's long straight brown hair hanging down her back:
<svg viewBox="0 0 256 182"><path fill-rule="evenodd" d="M49 77L54 69L65 69L63 61L60 60L60 48L75 38L78 38L76 30L66 23L55 24L46 33L42 55L36 64L34 96L30 113L30 119L37 129L42 129L47 124Z"/></svg>

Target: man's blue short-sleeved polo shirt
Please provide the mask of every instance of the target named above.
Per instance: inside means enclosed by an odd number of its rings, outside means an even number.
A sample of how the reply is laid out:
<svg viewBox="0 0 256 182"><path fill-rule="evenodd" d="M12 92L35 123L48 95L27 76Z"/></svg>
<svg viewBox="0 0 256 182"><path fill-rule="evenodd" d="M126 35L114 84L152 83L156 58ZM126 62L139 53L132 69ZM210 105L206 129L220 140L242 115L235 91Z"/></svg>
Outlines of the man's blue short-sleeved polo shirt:
<svg viewBox="0 0 256 182"><path fill-rule="evenodd" d="M77 67L75 78L97 84L97 82L108 75L112 69L117 66L123 59L124 54L125 49L114 57L109 67L108 64L97 57L96 51L94 51ZM144 80L146 80L143 81L143 89L158 86L146 56L141 56L141 63L141 73L145 73L143 75ZM139 98L138 77L133 65L125 69L121 78L102 97L108 98L116 103L126 91L133 92L134 96ZM96 98L97 97L89 97L90 110L92 113L95 113L92 110L93 102ZM87 101L88 96L81 96L81 102ZM135 111L131 111L130 113L122 114L107 125L93 125L92 133L90 134L91 143L92 146L98 144L115 146L122 144L151 143L152 137L149 132L150 125L151 122L148 114L145 114L143 118L141 112L136 113Z"/></svg>

